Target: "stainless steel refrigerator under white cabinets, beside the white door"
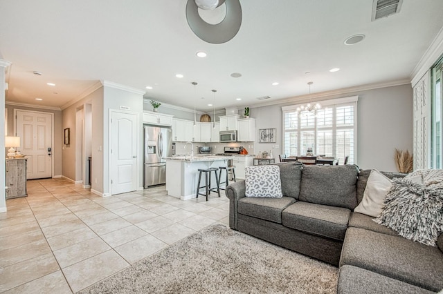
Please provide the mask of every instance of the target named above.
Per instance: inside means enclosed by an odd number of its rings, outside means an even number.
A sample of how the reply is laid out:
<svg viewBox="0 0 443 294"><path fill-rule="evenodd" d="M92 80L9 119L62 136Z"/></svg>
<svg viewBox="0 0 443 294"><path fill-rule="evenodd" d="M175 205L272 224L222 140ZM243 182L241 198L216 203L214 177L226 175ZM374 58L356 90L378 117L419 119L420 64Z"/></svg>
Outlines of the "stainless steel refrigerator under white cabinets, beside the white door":
<svg viewBox="0 0 443 294"><path fill-rule="evenodd" d="M144 126L145 181L143 186L166 183L166 161L162 157L172 156L171 128Z"/></svg>

